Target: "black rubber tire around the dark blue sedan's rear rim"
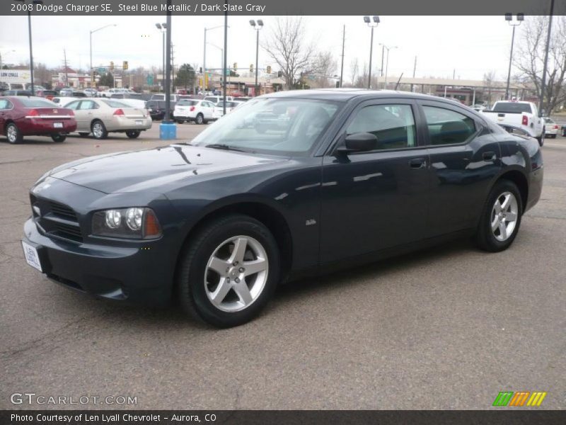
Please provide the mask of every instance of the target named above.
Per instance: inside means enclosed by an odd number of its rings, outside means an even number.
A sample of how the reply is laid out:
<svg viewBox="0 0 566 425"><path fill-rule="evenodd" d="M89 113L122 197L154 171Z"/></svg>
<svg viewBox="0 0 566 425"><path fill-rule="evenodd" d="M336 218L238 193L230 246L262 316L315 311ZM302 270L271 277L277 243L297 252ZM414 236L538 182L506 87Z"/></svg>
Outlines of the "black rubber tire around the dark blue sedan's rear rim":
<svg viewBox="0 0 566 425"><path fill-rule="evenodd" d="M503 193L512 193L516 198L517 212L516 212L516 224L512 233L504 241L497 240L494 232L492 231L492 220L493 208L496 201L502 196ZM521 192L517 188L516 184L512 181L502 179L495 183L492 190L490 191L485 205L483 207L482 215L480 217L480 222L478 224L478 229L475 234L475 242L485 251L499 252L504 251L509 248L513 243L517 233L519 232L519 227L521 227L521 216L523 215L523 202L521 199Z"/></svg>

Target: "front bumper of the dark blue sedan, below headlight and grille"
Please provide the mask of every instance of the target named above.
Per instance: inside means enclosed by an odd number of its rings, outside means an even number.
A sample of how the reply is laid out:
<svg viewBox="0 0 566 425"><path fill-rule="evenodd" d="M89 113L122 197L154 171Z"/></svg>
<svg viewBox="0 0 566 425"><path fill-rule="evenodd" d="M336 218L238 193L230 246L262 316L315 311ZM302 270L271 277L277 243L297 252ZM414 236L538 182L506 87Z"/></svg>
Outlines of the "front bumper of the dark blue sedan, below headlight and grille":
<svg viewBox="0 0 566 425"><path fill-rule="evenodd" d="M163 306L171 300L173 273L163 270L163 241L143 246L76 244L46 237L32 219L23 229L22 239L37 249L43 273L66 288L144 305Z"/></svg>

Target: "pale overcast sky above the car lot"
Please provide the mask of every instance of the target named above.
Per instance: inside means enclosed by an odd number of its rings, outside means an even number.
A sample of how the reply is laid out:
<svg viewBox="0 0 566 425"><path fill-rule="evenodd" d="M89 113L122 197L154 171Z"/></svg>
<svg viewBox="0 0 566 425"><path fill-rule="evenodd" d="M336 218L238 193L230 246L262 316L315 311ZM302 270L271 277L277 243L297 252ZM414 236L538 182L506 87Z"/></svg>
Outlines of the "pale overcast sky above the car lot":
<svg viewBox="0 0 566 425"><path fill-rule="evenodd" d="M255 64L255 30L250 18L262 18L265 27L260 38L269 33L275 21L272 16L229 16L228 63L238 67ZM529 19L528 16L525 18ZM35 62L49 67L63 63L63 49L71 67L88 68L89 30L106 24L117 24L93 34L93 66L129 61L129 67L161 68L162 36L155 28L165 16L33 16L33 51ZM344 79L350 80L350 64L356 58L360 69L369 62L371 30L362 16L307 16L308 40L319 50L330 50L340 73L342 26L346 26ZM204 27L221 26L223 16L173 16L175 64L187 62L202 66ZM524 26L524 24L523 24ZM523 26L516 32L521 39ZM389 55L388 74L412 76L417 56L417 77L452 77L483 79L495 71L497 79L507 78L512 28L503 16L381 16L374 32L374 72L381 67L381 46L397 46ZM222 47L223 30L209 31L207 41ZM11 52L16 50L16 52ZM0 53L2 61L29 60L27 16L0 16ZM275 64L260 48L260 68ZM207 47L207 67L221 66L221 52Z"/></svg>

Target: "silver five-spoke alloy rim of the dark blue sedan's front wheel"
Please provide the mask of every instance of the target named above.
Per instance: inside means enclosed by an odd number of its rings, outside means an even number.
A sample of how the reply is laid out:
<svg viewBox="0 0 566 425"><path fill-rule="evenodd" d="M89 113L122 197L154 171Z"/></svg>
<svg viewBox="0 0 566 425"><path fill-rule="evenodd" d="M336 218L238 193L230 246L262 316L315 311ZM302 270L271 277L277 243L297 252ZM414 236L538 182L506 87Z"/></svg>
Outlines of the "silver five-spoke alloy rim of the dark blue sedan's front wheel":
<svg viewBox="0 0 566 425"><path fill-rule="evenodd" d="M210 256L204 273L204 290L217 309L238 312L258 300L268 271L267 252L257 239L231 237Z"/></svg>

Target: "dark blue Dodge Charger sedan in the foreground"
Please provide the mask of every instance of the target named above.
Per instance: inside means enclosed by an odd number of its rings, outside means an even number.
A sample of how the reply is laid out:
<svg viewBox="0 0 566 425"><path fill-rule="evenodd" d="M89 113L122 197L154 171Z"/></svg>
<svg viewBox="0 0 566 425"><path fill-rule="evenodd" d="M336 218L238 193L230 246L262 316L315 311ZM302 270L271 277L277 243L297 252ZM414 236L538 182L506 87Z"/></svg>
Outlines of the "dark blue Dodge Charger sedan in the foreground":
<svg viewBox="0 0 566 425"><path fill-rule="evenodd" d="M218 327L278 283L473 235L512 244L541 195L536 140L393 91L260 96L190 143L80 159L30 191L23 249L69 288Z"/></svg>

